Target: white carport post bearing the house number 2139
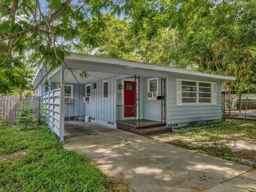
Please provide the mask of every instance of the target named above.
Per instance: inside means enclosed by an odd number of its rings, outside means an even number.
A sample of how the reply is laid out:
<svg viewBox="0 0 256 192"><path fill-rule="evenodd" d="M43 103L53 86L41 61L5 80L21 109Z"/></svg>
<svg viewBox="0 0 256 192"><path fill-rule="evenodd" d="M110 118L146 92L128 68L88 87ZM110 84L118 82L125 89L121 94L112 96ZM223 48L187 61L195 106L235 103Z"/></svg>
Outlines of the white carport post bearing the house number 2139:
<svg viewBox="0 0 256 192"><path fill-rule="evenodd" d="M65 97L65 88L64 88L64 69L61 67L60 68L61 72L61 77L60 77L60 142L64 142L64 118L65 118L65 102L64 102L64 97Z"/></svg>

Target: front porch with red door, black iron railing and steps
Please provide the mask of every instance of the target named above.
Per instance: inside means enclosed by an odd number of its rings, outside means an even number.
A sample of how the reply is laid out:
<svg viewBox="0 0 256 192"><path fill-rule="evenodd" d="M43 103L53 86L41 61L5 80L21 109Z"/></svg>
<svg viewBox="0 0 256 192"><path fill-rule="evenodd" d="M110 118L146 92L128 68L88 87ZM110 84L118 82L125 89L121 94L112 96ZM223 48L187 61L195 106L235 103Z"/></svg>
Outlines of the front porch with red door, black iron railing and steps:
<svg viewBox="0 0 256 192"><path fill-rule="evenodd" d="M124 86L124 100L117 100L116 128L138 135L171 131L166 127L165 83L165 78L142 78L140 83L140 76L118 82Z"/></svg>

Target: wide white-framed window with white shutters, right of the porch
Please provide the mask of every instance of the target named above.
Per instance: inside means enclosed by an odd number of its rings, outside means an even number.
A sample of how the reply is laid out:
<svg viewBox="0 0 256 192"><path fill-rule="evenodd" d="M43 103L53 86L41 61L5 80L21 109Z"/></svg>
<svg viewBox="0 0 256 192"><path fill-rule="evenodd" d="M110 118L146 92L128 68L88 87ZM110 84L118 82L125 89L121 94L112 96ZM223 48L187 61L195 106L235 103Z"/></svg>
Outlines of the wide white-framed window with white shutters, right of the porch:
<svg viewBox="0 0 256 192"><path fill-rule="evenodd" d="M176 105L212 104L216 105L217 84L177 79Z"/></svg>

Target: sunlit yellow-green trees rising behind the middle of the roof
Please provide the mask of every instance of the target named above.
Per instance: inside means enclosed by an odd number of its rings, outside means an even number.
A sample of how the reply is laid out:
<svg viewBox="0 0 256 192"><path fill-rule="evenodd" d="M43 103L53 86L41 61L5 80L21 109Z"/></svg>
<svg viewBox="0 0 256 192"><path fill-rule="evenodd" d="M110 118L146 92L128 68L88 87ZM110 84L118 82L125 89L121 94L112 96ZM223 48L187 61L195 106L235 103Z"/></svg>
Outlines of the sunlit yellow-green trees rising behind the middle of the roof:
<svg viewBox="0 0 256 192"><path fill-rule="evenodd" d="M133 34L132 22L127 17L120 19L112 14L102 13L90 19L90 22L99 18L102 25L94 23L96 26L90 28L98 28L90 42L86 41L87 30L81 26L78 44L74 46L76 51L165 66L187 67L187 62L178 54L179 39L175 30L160 28L154 37L148 39L144 32Z"/></svg>

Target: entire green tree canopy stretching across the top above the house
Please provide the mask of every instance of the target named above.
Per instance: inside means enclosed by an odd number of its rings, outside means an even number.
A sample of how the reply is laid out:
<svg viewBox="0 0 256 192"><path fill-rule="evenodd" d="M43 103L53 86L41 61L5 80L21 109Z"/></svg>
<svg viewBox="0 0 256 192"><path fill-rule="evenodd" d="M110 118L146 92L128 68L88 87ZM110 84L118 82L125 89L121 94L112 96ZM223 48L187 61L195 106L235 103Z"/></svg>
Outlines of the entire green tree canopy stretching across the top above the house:
<svg viewBox="0 0 256 192"><path fill-rule="evenodd" d="M2 0L0 93L28 88L35 66L56 68L70 51L236 76L228 90L254 91L255 7L255 0Z"/></svg>

